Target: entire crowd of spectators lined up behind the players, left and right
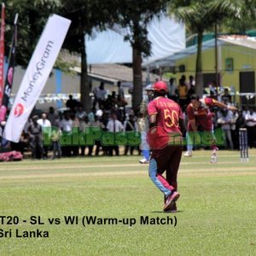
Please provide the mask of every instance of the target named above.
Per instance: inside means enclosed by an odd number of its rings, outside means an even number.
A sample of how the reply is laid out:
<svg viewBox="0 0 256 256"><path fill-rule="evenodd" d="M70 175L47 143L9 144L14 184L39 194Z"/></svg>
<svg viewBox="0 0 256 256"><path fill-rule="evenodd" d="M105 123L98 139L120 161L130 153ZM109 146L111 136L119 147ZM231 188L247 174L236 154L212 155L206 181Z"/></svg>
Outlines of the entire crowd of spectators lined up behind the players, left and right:
<svg viewBox="0 0 256 256"><path fill-rule="evenodd" d="M178 84L174 79L168 83L168 97L178 102L183 108L186 117L186 107L189 104L189 96L195 93L195 79L193 76L182 76ZM99 127L102 131L138 131L137 120L140 118L139 112L134 113L127 109L125 93L121 82L118 83L117 92L108 94L101 83L93 90L94 100L89 113L85 113L83 105L69 96L66 106L67 110L56 113L55 108L50 107L47 113L42 113L40 117L33 115L27 122L27 125L20 137L20 143L11 143L11 149L19 150L24 153L27 150L32 152L32 158L55 159L61 156L92 156L113 154L141 154L139 147L126 145L120 151L119 145L102 146L100 141L95 145L61 145L58 136L54 134L51 137L51 145L44 145L42 129L44 127L55 127L61 132L71 132L73 127L79 128L79 131L85 131L87 127ZM234 104L228 89L225 89L221 96L217 96L214 90L211 90L211 97L218 97L225 104ZM224 148L239 148L239 129L247 128L248 144L250 148L255 147L256 143L256 110L255 108L242 108L236 113L230 110L212 109L214 129L222 128L224 131L226 143ZM49 154L50 151L50 154Z"/></svg>

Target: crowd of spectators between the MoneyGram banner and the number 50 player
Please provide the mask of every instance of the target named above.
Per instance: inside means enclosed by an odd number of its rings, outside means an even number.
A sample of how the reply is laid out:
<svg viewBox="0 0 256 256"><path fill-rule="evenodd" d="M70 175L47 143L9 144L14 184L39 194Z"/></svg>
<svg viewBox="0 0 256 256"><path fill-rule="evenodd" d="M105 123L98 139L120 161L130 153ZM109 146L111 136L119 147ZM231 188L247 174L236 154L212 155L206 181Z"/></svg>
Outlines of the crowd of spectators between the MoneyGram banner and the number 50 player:
<svg viewBox="0 0 256 256"><path fill-rule="evenodd" d="M92 155L119 155L119 145L103 146L100 141L95 145L61 145L58 140L62 133L72 132L73 128L85 132L87 127L99 127L102 131L138 131L137 116L127 109L125 93L121 82L118 90L108 95L104 89L104 84L93 90L92 108L89 113L84 111L83 105L74 100L70 95L66 102L67 110L56 113L55 108L50 107L47 113L32 115L20 137L20 143L11 143L12 150L24 153L26 150L32 152L33 159L55 159L61 156L88 156ZM49 137L51 145L44 145L44 134L50 127ZM54 129L52 129L54 127ZM58 131L58 132L56 132ZM49 151L51 152L49 154ZM122 154L140 154L140 148L125 145Z"/></svg>

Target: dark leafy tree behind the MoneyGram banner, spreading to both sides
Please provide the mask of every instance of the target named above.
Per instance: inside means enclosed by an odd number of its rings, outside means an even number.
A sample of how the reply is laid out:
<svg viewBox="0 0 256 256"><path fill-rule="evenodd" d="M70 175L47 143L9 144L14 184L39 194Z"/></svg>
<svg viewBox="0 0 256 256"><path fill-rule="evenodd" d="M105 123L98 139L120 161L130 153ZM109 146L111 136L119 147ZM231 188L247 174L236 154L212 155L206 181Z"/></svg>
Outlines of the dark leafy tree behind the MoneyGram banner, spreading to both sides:
<svg viewBox="0 0 256 256"><path fill-rule="evenodd" d="M67 33L63 48L70 52L78 52L81 56L81 79L80 92L81 102L86 111L90 110L90 86L87 74L85 34L89 34L92 28L99 26L104 28L105 24L111 24L111 13L113 5L108 1L101 0L9 0L7 9L7 40L11 41L12 24L15 13L19 13L18 22L18 44L16 61L26 67L35 48L45 22L50 14L57 14L72 20ZM9 44L7 44L9 50ZM55 63L64 71L67 71L67 63L60 58Z"/></svg>

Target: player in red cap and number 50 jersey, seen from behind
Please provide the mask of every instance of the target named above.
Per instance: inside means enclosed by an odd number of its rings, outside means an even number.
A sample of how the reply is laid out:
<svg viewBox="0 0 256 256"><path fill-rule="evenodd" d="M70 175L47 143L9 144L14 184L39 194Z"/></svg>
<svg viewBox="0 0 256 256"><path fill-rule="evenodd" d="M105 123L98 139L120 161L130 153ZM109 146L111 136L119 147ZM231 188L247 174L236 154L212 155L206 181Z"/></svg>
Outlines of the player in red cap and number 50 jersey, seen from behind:
<svg viewBox="0 0 256 256"><path fill-rule="evenodd" d="M183 113L179 105L166 98L167 85L153 85L154 100L148 104L148 141L152 149L149 177L165 194L165 212L177 212L177 171L182 156ZM176 143L178 142L178 143ZM166 177L163 177L166 172Z"/></svg>

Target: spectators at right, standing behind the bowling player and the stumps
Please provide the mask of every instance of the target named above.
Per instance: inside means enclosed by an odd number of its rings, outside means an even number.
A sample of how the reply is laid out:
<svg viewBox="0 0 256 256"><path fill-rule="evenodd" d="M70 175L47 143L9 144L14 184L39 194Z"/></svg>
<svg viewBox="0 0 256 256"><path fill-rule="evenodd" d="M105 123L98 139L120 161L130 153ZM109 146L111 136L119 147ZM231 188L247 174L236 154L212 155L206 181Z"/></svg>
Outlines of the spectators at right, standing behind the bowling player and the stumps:
<svg viewBox="0 0 256 256"><path fill-rule="evenodd" d="M226 105L235 105L232 96L230 95L229 88L218 89L210 84L208 90L205 90L205 94L220 102L224 102ZM189 81L186 81L186 77L183 75L178 84L174 84L174 79L169 80L168 84L168 97L175 102L179 103L183 109L183 113L186 116L186 108L190 102L190 96L195 94L195 79L192 75L189 76ZM239 108L238 108L239 109ZM247 128L248 146L253 148L256 146L256 108L255 106L248 107L243 106L236 112L232 112L228 109L212 108L212 119L214 129L222 128L224 131L225 146L226 149L239 149L239 129Z"/></svg>

